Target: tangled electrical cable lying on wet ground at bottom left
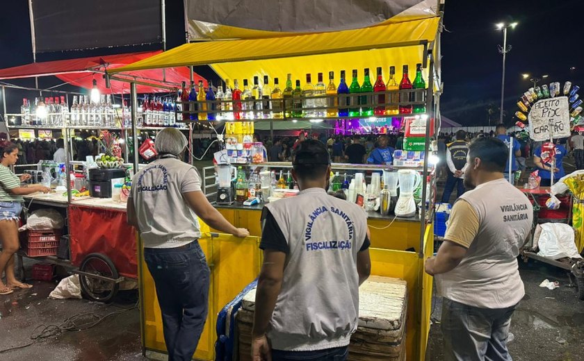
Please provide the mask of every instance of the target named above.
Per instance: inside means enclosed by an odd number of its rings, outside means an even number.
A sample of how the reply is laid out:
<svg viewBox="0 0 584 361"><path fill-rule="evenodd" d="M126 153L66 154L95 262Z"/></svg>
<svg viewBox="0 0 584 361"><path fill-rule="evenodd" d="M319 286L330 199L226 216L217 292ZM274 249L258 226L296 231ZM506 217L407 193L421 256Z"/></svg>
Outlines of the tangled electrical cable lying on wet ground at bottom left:
<svg viewBox="0 0 584 361"><path fill-rule="evenodd" d="M42 324L42 325L35 327L35 329L31 333L31 336L30 336L30 339L32 340L31 342L29 342L28 344L23 344L20 346L14 346L14 347L10 347L8 349L0 350L0 353L6 353L9 351L25 349L26 347L32 346L33 344L36 344L36 343L42 341L42 339L46 339L49 337L56 337L62 333L65 333L65 331L88 330L89 328L97 326L102 321L104 321L104 319L107 319L108 317L114 316L116 314L122 314L124 312L129 311L129 310L134 310L136 308L138 308L138 303L136 303L136 305L133 305L132 307L124 308L122 310L117 310L114 312L110 312L108 314L104 314L103 316L100 314L97 314L95 312L84 312L84 313L75 314L74 316L65 319L59 325L44 325L44 324ZM78 324L78 322L80 320L86 319L86 318L90 318L90 319L92 319L92 321L87 321L86 323ZM39 331L39 329L40 329L40 331Z"/></svg>

